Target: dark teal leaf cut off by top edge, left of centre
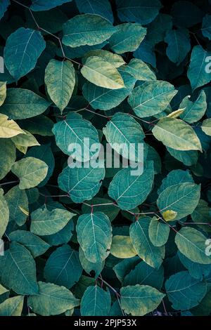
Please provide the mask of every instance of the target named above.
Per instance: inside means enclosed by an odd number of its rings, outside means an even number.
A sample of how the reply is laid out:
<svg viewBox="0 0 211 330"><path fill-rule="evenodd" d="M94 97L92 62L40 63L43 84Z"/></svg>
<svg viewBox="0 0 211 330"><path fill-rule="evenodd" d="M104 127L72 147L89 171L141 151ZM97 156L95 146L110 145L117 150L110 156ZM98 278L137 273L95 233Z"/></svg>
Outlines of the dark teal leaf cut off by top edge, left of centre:
<svg viewBox="0 0 211 330"><path fill-rule="evenodd" d="M113 12L108 0L75 0L80 13L101 15L113 23Z"/></svg>

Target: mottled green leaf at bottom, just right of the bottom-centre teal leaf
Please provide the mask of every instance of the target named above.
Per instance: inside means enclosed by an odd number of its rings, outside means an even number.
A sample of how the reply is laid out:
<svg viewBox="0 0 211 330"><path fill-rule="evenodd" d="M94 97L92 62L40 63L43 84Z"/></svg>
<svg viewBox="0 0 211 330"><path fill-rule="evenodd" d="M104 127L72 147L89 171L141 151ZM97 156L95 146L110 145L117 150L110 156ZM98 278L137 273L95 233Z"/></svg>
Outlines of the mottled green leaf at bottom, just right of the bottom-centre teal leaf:
<svg viewBox="0 0 211 330"><path fill-rule="evenodd" d="M148 285L123 286L120 289L121 306L132 316L143 316L160 305L165 294Z"/></svg>

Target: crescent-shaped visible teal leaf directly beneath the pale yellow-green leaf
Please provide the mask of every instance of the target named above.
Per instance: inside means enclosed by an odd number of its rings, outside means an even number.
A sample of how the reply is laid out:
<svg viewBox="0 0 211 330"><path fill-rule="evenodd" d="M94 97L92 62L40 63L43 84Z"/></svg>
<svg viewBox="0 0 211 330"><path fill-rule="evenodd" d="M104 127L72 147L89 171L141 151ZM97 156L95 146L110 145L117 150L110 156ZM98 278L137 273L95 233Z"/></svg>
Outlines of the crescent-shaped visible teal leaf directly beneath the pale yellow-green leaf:
<svg viewBox="0 0 211 330"><path fill-rule="evenodd" d="M83 95L84 98L89 101L91 107L106 111L120 105L120 103L127 98L129 93L131 93L136 83L136 79L130 74L130 71L127 71L129 70L125 67L124 69L123 67L118 69L124 81L124 88L102 88L87 81L83 86Z"/></svg>

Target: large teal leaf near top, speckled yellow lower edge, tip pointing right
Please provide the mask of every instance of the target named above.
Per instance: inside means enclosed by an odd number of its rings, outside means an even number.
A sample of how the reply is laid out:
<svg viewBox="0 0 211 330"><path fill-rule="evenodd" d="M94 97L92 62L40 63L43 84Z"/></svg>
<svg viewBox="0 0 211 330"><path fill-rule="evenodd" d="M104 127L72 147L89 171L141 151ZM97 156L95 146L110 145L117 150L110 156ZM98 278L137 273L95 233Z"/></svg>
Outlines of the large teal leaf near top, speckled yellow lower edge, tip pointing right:
<svg viewBox="0 0 211 330"><path fill-rule="evenodd" d="M70 47L97 45L115 31L116 27L99 15L76 15L63 25L63 44Z"/></svg>

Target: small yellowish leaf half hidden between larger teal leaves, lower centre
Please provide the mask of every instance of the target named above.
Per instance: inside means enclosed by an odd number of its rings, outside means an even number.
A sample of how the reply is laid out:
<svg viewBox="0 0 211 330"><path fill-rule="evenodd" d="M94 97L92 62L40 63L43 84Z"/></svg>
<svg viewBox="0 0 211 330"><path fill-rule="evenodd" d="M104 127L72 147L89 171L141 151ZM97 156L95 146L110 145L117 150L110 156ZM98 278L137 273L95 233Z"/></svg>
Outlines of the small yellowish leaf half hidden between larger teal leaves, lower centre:
<svg viewBox="0 0 211 330"><path fill-rule="evenodd" d="M137 254L130 237L120 235L113 236L110 253L116 258L132 258Z"/></svg>

